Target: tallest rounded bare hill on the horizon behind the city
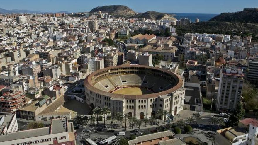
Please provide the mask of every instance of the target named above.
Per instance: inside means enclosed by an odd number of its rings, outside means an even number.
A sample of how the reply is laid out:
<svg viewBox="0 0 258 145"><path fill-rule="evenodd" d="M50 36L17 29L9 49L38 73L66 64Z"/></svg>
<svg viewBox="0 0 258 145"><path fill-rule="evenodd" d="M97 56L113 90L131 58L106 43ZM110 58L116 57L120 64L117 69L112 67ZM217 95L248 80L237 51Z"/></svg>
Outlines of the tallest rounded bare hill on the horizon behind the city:
<svg viewBox="0 0 258 145"><path fill-rule="evenodd" d="M93 8L90 13L96 13L101 11L102 13L109 13L113 16L132 16L135 15L135 11L128 6L123 5L110 5L110 6L98 6Z"/></svg>

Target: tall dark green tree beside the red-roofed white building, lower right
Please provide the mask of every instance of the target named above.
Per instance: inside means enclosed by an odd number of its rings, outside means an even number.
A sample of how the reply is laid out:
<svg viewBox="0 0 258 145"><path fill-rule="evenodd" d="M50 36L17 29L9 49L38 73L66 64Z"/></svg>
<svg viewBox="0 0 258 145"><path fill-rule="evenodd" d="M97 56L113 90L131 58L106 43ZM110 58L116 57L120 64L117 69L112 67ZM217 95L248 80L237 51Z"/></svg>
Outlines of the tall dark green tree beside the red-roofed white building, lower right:
<svg viewBox="0 0 258 145"><path fill-rule="evenodd" d="M232 114L229 117L230 126L236 126L238 121L245 116L245 110L243 109L243 104L241 102L237 103L237 107L233 110Z"/></svg>

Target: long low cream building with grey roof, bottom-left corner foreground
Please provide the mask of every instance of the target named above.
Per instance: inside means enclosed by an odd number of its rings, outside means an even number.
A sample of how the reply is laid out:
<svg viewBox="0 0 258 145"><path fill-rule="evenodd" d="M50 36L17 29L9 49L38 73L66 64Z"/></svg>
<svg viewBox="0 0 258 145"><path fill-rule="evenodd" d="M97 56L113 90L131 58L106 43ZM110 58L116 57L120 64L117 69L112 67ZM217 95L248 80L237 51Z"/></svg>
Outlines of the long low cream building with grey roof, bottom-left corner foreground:
<svg viewBox="0 0 258 145"><path fill-rule="evenodd" d="M12 145L76 145L73 122L66 118L53 119L51 126L29 129L0 136L0 144Z"/></svg>

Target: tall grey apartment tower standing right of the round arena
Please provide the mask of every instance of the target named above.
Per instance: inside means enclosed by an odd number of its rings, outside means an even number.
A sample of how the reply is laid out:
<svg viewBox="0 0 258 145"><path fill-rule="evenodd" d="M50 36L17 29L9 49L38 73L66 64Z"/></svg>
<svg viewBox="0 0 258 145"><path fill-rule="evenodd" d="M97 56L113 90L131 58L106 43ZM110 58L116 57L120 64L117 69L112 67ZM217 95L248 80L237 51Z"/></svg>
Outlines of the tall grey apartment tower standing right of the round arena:
<svg viewBox="0 0 258 145"><path fill-rule="evenodd" d="M216 108L233 110L240 102L244 74L241 69L220 70L220 84L218 89Z"/></svg>

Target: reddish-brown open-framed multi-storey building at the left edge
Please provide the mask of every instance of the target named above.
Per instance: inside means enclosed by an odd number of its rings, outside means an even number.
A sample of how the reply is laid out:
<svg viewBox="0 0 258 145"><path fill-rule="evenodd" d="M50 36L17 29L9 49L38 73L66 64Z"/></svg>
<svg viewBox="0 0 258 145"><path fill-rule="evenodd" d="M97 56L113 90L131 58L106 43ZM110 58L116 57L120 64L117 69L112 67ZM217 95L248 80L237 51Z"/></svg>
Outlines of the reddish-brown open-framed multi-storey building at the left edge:
<svg viewBox="0 0 258 145"><path fill-rule="evenodd" d="M25 92L18 89L6 92L0 97L1 112L15 113L24 105L26 105Z"/></svg>

